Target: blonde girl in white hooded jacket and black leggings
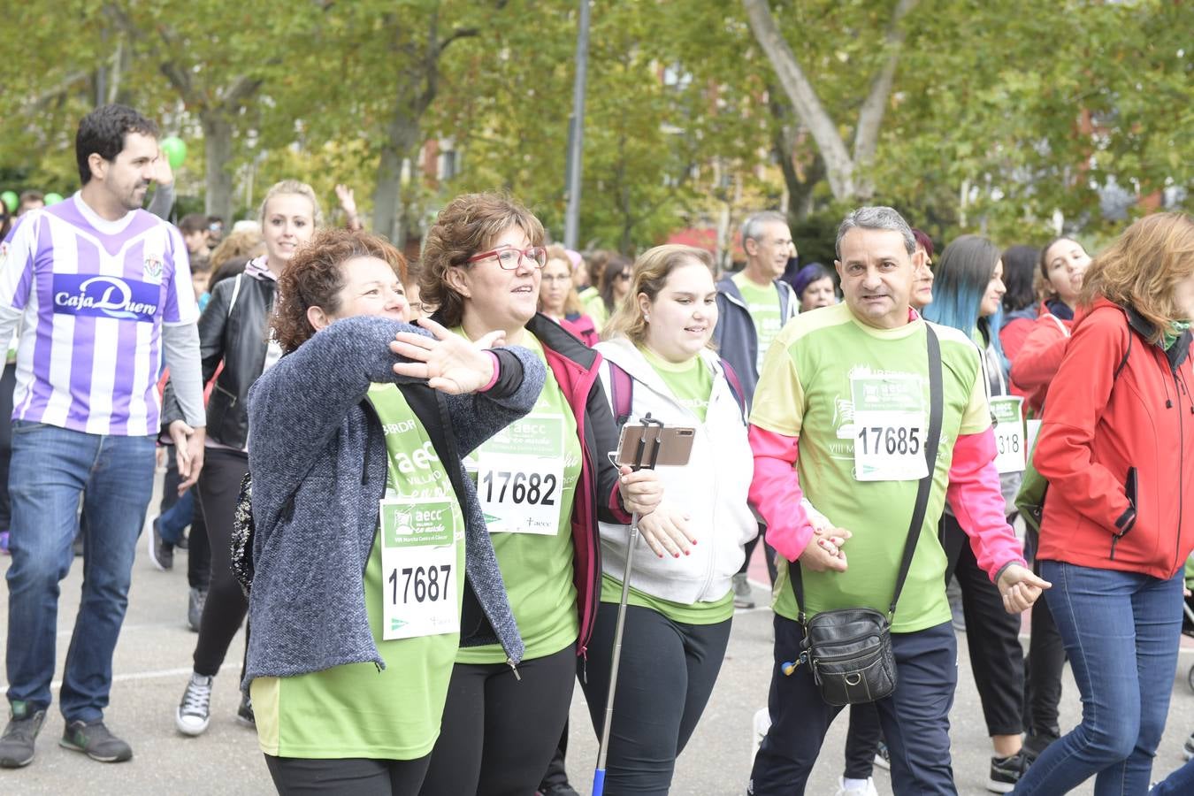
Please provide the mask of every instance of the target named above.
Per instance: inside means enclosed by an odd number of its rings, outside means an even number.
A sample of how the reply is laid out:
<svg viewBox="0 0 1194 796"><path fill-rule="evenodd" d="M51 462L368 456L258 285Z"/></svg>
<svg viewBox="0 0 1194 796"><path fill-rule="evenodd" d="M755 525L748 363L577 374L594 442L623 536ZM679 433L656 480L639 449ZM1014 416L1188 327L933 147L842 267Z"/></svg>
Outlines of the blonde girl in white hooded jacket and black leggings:
<svg viewBox="0 0 1194 796"><path fill-rule="evenodd" d="M613 383L613 368L629 375L627 424L650 412L696 430L687 465L657 468L666 496L639 522L645 544L633 556L605 771L611 794L667 794L730 640L731 576L758 532L746 505L753 457L737 380L709 348L716 322L709 254L658 246L634 264L629 295L605 327L610 339L596 346L607 396L627 385ZM598 736L628 541L627 526L601 524L601 606L581 683Z"/></svg>

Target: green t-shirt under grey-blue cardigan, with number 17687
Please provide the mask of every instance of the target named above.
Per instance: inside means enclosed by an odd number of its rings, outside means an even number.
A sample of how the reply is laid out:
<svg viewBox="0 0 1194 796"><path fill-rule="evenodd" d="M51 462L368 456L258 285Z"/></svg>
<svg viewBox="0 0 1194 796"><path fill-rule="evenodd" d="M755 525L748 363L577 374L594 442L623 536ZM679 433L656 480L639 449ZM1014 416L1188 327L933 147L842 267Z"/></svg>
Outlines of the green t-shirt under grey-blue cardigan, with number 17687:
<svg viewBox="0 0 1194 796"><path fill-rule="evenodd" d="M386 433L387 498L443 498L451 506L456 563L449 588L455 588L458 621L464 592L464 518L451 481L398 388L374 384L369 401ZM387 582L381 548L375 536L364 592L369 630L386 668L378 671L371 662L346 664L297 677L254 679L251 692L257 733L266 754L413 760L435 746L460 633L383 640L382 594L402 579L393 573L398 580ZM318 566L318 560L312 566Z"/></svg>

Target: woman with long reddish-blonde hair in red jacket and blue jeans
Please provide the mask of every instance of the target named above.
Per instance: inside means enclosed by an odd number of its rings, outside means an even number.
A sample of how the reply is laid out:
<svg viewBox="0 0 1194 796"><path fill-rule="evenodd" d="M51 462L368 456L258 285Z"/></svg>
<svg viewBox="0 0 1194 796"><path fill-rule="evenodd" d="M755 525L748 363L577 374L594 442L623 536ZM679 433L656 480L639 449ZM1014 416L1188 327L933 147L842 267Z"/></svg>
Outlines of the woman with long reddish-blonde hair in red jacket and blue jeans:
<svg viewBox="0 0 1194 796"><path fill-rule="evenodd" d="M1090 266L1034 462L1050 481L1041 575L1082 723L1016 794L1144 794L1169 710L1194 548L1194 221L1132 224Z"/></svg>

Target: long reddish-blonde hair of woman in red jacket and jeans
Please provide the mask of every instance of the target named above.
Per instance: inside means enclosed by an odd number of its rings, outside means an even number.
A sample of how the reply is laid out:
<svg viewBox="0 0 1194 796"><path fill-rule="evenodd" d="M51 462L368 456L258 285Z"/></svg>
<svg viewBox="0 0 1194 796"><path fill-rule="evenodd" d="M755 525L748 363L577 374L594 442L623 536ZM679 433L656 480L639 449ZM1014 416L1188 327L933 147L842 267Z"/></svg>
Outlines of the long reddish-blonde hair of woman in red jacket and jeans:
<svg viewBox="0 0 1194 796"><path fill-rule="evenodd" d="M1184 212L1158 212L1124 230L1095 258L1082 282L1083 307L1103 297L1132 307L1152 327L1158 343L1174 321L1192 320L1174 300L1174 285L1194 273L1194 220Z"/></svg>

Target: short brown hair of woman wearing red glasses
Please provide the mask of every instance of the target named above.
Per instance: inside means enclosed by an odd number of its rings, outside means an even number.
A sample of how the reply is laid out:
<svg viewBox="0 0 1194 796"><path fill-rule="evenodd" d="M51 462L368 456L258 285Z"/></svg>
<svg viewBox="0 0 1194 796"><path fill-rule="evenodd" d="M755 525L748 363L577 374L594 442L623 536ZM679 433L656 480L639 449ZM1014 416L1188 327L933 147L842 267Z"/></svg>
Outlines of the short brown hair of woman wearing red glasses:
<svg viewBox="0 0 1194 796"><path fill-rule="evenodd" d="M511 227L518 227L531 246L543 245L543 224L517 199L501 193L463 193L439 211L423 243L420 295L437 307L444 326L460 326L464 297L448 284L448 269L472 267L468 258L490 248Z"/></svg>

